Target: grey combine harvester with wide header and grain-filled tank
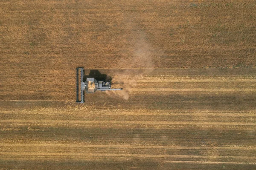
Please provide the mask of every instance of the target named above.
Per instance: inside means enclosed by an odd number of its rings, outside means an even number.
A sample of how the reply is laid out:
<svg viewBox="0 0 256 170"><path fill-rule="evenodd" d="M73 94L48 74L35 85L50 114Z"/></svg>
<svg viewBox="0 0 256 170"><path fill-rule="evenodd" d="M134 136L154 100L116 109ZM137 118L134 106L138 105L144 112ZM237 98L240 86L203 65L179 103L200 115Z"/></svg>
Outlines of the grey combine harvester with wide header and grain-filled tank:
<svg viewBox="0 0 256 170"><path fill-rule="evenodd" d="M80 71L80 76L79 76ZM81 80L79 80L79 77ZM94 93L96 91L107 91L107 90L122 90L122 89L111 89L110 81L96 81L95 78L86 78L84 81L84 68L76 68L76 102L84 103L84 91L87 93ZM80 93L80 94L79 94ZM79 100L80 97L80 100Z"/></svg>

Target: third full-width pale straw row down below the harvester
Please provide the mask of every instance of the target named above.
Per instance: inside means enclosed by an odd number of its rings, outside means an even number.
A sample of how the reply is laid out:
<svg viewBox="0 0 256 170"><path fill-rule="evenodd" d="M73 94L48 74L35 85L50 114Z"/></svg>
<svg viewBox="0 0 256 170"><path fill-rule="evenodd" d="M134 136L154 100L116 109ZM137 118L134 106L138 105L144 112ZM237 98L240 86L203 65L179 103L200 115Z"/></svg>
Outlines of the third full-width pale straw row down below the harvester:
<svg viewBox="0 0 256 170"><path fill-rule="evenodd" d="M1 147L82 147L82 148L131 148L131 149L175 149L175 150L256 150L256 147L180 147L180 146L138 146L138 145L95 145L95 144L9 144Z"/></svg>

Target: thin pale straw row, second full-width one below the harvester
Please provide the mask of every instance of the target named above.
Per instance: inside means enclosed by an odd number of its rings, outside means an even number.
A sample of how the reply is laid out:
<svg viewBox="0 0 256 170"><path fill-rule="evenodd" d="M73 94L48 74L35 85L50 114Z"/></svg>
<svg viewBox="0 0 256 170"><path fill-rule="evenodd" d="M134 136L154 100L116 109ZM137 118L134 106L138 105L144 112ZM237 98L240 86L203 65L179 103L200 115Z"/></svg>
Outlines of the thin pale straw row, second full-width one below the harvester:
<svg viewBox="0 0 256 170"><path fill-rule="evenodd" d="M70 120L0 120L0 123L34 123L34 124L191 124L191 125L247 125L256 126L256 123L247 122L192 122L192 121L70 121Z"/></svg>

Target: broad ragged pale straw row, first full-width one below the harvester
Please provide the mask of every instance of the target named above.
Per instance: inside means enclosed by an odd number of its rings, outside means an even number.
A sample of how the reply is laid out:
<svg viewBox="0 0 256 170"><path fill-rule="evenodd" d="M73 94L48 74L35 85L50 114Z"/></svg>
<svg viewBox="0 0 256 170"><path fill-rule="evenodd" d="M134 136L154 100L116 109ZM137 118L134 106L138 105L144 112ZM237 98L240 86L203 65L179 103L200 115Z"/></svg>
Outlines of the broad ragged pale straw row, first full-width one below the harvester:
<svg viewBox="0 0 256 170"><path fill-rule="evenodd" d="M43 109L43 108L42 108ZM32 109L32 111L6 111L6 110L2 110L0 111L1 114L13 114L16 117L20 114L22 115L51 115L52 117L54 117L54 115L73 115L73 116L78 116L78 115L82 115L82 116L87 116L87 115L93 115L93 116L98 116L98 115L165 115L165 116L169 116L169 115L183 115L183 116L224 116L224 117L233 117L233 116L239 116L239 117L256 117L256 110L251 110L250 112L241 112L237 113L237 112L221 112L216 110L216 112L212 112L212 111L201 111L201 112L195 112L194 110L192 111L188 111L188 112L177 112L174 110L165 110L163 111L159 111L159 110L147 110L147 109L130 109L130 111L128 111L127 109L111 109L111 111L106 111L105 109L92 109L90 111L87 111L86 114L84 115L84 111L83 110L87 110L84 109L83 107L79 108L79 110L74 111L70 111L72 109L58 109L58 110L62 110L62 111L55 111L54 108L50 109L50 108L44 108L44 110L42 109ZM40 111L40 112L38 112Z"/></svg>

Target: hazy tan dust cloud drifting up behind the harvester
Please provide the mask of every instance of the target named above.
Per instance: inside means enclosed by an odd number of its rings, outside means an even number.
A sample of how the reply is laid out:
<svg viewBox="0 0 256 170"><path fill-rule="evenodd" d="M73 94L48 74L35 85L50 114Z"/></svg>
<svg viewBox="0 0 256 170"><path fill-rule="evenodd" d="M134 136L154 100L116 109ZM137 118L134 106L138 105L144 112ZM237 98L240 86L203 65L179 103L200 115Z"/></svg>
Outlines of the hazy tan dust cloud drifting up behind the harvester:
<svg viewBox="0 0 256 170"><path fill-rule="evenodd" d="M138 33L138 32L137 32ZM137 34L138 35L138 34ZM134 46L131 50L131 57L120 60L120 71L112 71L113 88L123 88L122 91L108 91L109 95L118 95L128 100L132 89L136 88L137 81L135 75L142 75L153 71L151 47L147 43L145 33L140 32L134 40Z"/></svg>

